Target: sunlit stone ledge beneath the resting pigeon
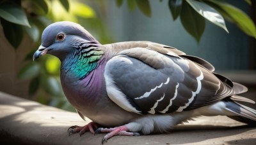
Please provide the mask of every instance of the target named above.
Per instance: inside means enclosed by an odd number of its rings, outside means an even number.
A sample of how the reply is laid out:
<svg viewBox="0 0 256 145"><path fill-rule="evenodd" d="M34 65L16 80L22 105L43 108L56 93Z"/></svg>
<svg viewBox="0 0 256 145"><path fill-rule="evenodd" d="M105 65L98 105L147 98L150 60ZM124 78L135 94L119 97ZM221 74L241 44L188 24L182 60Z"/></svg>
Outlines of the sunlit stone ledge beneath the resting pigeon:
<svg viewBox="0 0 256 145"><path fill-rule="evenodd" d="M68 127L88 122L76 113L0 92L0 144L101 144L104 134L68 136ZM116 136L106 144L256 144L256 128L225 116L200 117L170 134Z"/></svg>

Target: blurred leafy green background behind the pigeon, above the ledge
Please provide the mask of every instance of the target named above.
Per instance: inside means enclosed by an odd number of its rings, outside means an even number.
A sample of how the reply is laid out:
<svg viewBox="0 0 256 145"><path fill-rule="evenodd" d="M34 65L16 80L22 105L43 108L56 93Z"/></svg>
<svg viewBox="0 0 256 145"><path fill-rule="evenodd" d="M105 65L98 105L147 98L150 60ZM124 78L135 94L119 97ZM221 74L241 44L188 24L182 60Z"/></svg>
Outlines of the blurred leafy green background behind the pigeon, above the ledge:
<svg viewBox="0 0 256 145"><path fill-rule="evenodd" d="M42 31L62 20L83 25L102 44L154 41L202 57L216 71L255 74L255 0L0 0L0 20L0 91L68 111L60 60L32 61Z"/></svg>

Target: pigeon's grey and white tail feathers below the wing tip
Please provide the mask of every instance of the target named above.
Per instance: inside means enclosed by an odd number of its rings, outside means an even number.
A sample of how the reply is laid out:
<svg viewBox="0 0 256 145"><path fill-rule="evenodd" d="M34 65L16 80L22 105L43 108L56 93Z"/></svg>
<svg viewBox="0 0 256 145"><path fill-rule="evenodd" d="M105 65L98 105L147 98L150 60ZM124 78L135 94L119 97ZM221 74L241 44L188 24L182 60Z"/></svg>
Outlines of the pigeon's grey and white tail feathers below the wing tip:
<svg viewBox="0 0 256 145"><path fill-rule="evenodd" d="M239 100L246 100L244 102L254 102L253 100L250 99L244 99L244 97L238 97L236 96ZM236 98L236 99L237 99ZM248 100L248 101L247 101ZM237 121L241 121L243 123L247 123L250 125L256 125L256 110L252 109L251 107L244 106L242 104L239 104L238 102L228 100L225 101L226 104L226 109L228 111L231 111L234 113L234 116L228 116L229 118L232 118Z"/></svg>

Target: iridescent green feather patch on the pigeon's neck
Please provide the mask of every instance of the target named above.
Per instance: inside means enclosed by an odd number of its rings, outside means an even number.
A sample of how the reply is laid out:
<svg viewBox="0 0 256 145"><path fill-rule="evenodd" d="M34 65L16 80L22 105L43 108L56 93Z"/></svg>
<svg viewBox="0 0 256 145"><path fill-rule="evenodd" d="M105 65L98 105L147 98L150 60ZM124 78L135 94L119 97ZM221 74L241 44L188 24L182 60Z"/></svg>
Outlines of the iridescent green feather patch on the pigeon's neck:
<svg viewBox="0 0 256 145"><path fill-rule="evenodd" d="M92 50L85 53L77 50L73 54L73 58L72 56L68 58L69 60L63 65L63 69L67 69L67 72L71 71L71 74L75 75L76 78L83 79L97 67L103 54L102 50Z"/></svg>

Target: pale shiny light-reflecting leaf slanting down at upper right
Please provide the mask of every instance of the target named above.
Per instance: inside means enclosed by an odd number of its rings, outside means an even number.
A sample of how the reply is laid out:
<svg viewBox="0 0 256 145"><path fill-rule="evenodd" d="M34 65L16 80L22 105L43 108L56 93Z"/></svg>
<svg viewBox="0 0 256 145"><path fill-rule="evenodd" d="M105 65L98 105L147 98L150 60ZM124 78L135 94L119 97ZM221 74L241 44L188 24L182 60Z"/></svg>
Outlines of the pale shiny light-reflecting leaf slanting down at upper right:
<svg viewBox="0 0 256 145"><path fill-rule="evenodd" d="M225 20L222 15L211 6L195 0L186 0L188 4L202 17L206 18L215 25L218 25L222 29L228 32Z"/></svg>

